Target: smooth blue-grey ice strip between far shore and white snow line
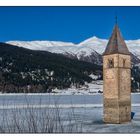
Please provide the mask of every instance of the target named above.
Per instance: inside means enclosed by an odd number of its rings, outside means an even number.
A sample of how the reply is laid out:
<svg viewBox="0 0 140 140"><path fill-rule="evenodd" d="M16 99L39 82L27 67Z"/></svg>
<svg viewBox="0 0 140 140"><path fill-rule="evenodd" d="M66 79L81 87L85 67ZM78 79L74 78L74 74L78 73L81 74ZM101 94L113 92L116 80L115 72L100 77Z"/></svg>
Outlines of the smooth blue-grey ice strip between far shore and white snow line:
<svg viewBox="0 0 140 140"><path fill-rule="evenodd" d="M140 94L131 95L132 104L140 103ZM102 104L102 94L95 95L49 95L46 94L0 94L0 106L2 105L31 105L38 104Z"/></svg>

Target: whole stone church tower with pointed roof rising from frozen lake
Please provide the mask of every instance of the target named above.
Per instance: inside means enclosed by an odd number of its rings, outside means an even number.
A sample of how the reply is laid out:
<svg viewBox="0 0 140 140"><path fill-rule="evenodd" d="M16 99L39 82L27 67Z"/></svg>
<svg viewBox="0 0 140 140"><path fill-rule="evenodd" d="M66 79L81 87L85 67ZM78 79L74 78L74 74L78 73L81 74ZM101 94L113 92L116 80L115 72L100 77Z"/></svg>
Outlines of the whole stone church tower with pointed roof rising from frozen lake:
<svg viewBox="0 0 140 140"><path fill-rule="evenodd" d="M131 121L131 56L116 23L103 53L104 122Z"/></svg>

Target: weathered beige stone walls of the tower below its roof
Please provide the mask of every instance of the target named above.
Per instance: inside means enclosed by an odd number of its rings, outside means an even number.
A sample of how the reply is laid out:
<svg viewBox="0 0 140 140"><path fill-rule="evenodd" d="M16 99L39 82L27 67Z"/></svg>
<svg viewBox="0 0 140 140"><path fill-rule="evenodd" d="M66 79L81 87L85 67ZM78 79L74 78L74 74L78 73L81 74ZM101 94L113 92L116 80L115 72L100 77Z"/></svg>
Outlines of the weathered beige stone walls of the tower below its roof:
<svg viewBox="0 0 140 140"><path fill-rule="evenodd" d="M109 67L112 59L114 66ZM123 63L125 60L125 63ZM131 121L131 62L129 55L112 54L103 57L104 122Z"/></svg>

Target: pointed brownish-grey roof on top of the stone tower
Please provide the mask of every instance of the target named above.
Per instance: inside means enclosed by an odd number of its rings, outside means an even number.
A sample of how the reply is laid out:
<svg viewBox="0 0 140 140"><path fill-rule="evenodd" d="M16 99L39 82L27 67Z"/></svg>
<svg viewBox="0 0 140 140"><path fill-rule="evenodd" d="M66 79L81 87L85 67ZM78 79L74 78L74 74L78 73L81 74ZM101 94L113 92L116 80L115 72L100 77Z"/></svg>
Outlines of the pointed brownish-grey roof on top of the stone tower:
<svg viewBox="0 0 140 140"><path fill-rule="evenodd" d="M103 55L116 54L116 53L130 55L130 52L121 36L117 24L113 29L113 33L109 39L109 42L107 44L107 47Z"/></svg>

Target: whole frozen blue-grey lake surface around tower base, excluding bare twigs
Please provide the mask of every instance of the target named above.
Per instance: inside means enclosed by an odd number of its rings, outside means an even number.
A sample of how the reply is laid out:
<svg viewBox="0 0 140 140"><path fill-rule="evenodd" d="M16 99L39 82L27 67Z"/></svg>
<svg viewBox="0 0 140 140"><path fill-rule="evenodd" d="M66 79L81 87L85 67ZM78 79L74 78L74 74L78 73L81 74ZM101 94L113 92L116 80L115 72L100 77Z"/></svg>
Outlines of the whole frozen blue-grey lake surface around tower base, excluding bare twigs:
<svg viewBox="0 0 140 140"><path fill-rule="evenodd" d="M11 123L8 126L13 127L13 112L17 114L18 121L22 117L26 117L26 109L32 108L33 112L41 117L46 110L49 111L59 109L61 122L66 126L68 117L70 117L71 125L75 125L78 129L73 133L140 133L140 94L132 94L132 111L135 112L134 119L127 124L104 124L102 94L96 95L45 95L45 94L18 94L18 95L0 95L0 124L7 129L5 117ZM24 112L24 113L23 113ZM22 115L21 115L22 114ZM21 116L20 116L21 115ZM42 115L43 116L43 115ZM53 117L53 116L50 116ZM22 122L23 123L23 122ZM26 123L26 122L25 122ZM41 125L41 121L39 121ZM43 124L43 122L42 122ZM1 126L0 126L1 130ZM8 131L7 132L13 132ZM17 131L28 132L28 131ZM33 131L34 132L34 131ZM41 131L42 132L42 131ZM64 131L57 131L64 132Z"/></svg>

